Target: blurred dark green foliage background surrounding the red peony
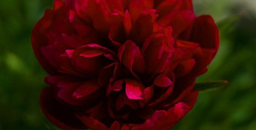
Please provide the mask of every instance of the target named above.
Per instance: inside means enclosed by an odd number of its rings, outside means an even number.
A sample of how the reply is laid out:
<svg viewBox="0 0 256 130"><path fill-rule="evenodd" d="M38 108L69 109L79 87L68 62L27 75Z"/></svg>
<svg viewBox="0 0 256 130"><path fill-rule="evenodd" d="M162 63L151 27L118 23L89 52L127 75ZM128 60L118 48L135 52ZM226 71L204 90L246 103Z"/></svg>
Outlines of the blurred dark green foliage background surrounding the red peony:
<svg viewBox="0 0 256 130"><path fill-rule="evenodd" d="M35 59L31 31L53 0L0 1L0 129L47 129L39 95L47 74ZM198 81L229 85L200 93L173 129L256 129L256 1L194 0L197 16L214 17L221 46ZM52 125L51 125L52 126Z"/></svg>

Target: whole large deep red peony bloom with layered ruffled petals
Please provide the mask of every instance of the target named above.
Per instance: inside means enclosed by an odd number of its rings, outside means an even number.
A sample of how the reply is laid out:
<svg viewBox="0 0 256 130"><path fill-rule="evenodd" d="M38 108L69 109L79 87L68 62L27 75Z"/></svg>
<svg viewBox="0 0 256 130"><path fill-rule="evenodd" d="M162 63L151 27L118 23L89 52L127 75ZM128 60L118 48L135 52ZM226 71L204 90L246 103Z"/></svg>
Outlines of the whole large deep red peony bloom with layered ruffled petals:
<svg viewBox="0 0 256 130"><path fill-rule="evenodd" d="M55 0L32 32L50 74L40 106L62 129L170 129L196 103L218 45L191 0Z"/></svg>

